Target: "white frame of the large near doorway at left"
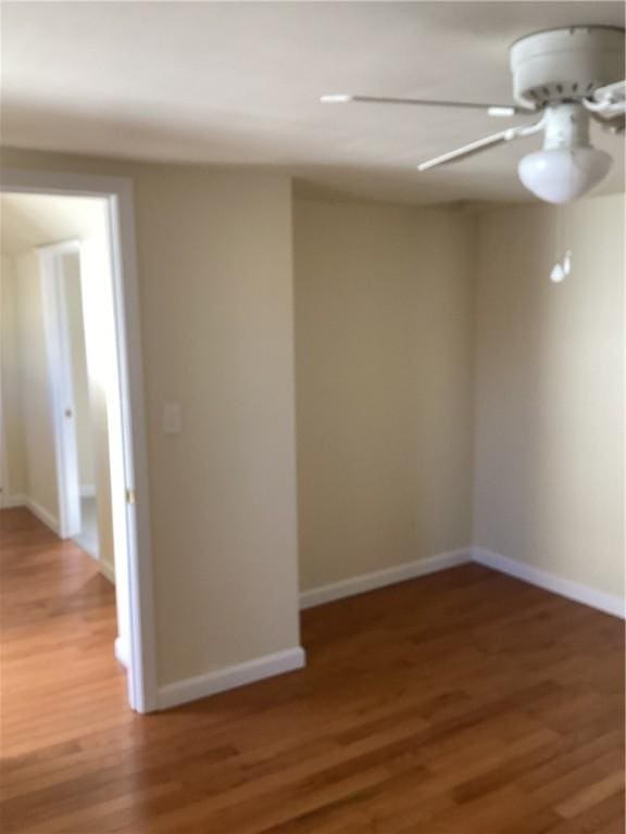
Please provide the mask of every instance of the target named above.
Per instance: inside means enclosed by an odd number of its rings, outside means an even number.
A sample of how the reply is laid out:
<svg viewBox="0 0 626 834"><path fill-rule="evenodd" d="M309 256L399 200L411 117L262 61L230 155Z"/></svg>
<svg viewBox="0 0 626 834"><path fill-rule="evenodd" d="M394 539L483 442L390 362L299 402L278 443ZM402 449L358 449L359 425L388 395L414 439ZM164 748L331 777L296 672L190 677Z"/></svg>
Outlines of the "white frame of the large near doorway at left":
<svg viewBox="0 0 626 834"><path fill-rule="evenodd" d="M121 177L5 168L0 188L107 201L125 497L129 498L125 503L126 558L116 554L115 589L118 621L122 616L127 623L127 633L121 637L128 702L138 712L150 712L156 708L154 596L133 182Z"/></svg>

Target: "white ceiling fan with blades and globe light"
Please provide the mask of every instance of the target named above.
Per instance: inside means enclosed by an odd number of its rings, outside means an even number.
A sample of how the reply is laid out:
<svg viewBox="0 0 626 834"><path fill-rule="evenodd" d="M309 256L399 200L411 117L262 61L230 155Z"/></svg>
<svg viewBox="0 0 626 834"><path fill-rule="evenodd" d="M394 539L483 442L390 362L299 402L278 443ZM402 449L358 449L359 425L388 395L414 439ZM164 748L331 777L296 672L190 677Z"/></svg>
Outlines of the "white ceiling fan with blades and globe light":
<svg viewBox="0 0 626 834"><path fill-rule="evenodd" d="M510 63L515 104L347 93L322 96L321 101L458 108L494 117L536 114L539 118L529 125L506 127L422 162L417 169L425 172L542 132L543 149L522 159L517 168L519 179L541 200L576 200L606 176L612 163L610 154L591 144L590 122L598 122L613 132L624 132L624 29L568 26L539 31L512 45Z"/></svg>

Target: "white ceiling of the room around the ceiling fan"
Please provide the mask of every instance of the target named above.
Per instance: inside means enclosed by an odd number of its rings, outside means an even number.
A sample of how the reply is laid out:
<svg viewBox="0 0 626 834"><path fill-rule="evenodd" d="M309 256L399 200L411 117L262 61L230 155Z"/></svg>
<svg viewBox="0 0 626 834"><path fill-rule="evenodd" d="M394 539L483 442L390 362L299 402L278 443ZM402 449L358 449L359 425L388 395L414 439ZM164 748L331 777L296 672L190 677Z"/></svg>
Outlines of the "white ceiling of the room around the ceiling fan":
<svg viewBox="0 0 626 834"><path fill-rule="evenodd" d="M323 105L323 92L511 100L508 47L538 29L624 25L621 2L3 4L3 142L291 172L301 188L415 203L529 199L534 138L417 174L503 127L446 110ZM509 124L509 123L506 123ZM624 140L600 191L624 187Z"/></svg>

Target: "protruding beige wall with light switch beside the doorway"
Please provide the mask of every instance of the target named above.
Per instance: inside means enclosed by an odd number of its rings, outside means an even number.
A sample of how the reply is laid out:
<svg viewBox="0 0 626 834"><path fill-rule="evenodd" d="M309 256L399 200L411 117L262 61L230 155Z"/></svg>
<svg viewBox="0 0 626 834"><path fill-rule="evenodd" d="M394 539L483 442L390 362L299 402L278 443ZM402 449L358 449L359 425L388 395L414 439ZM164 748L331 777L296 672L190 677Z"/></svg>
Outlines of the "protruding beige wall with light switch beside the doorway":
<svg viewBox="0 0 626 834"><path fill-rule="evenodd" d="M3 163L134 181L160 682L298 645L288 177ZM172 400L179 435L162 431Z"/></svg>

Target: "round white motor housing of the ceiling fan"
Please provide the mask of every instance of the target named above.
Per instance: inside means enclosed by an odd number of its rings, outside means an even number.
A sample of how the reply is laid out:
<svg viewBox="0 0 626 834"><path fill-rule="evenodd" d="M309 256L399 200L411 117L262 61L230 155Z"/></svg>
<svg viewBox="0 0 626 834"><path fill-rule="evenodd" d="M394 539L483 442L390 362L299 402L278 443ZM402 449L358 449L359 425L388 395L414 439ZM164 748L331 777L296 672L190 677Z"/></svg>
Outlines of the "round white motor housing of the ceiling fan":
<svg viewBox="0 0 626 834"><path fill-rule="evenodd" d="M511 47L511 71L513 94L523 105L580 101L622 79L624 29L569 26L528 35Z"/></svg>

